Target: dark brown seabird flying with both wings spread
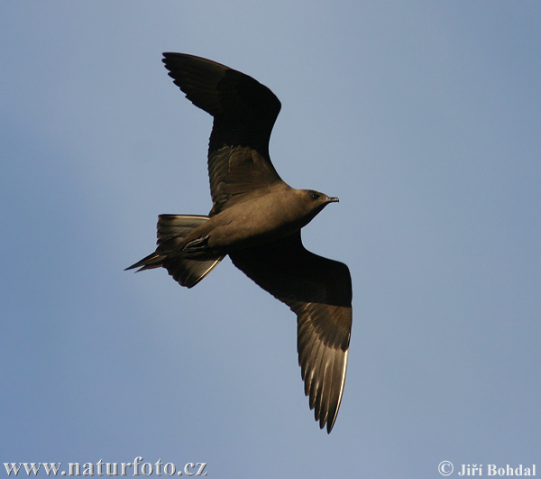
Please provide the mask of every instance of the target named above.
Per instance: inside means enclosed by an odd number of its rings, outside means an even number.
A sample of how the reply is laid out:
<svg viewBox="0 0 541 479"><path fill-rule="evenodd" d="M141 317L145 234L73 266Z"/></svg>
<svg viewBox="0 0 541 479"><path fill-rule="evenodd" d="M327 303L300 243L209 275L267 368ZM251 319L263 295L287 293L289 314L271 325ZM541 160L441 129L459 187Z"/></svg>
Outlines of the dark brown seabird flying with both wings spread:
<svg viewBox="0 0 541 479"><path fill-rule="evenodd" d="M269 154L280 100L256 79L201 57L163 53L169 76L214 118L207 168L207 216L158 216L156 251L126 268L165 268L187 288L229 255L232 263L297 315L298 364L320 428L330 433L344 393L353 321L344 263L302 244L300 230L338 202L281 180Z"/></svg>

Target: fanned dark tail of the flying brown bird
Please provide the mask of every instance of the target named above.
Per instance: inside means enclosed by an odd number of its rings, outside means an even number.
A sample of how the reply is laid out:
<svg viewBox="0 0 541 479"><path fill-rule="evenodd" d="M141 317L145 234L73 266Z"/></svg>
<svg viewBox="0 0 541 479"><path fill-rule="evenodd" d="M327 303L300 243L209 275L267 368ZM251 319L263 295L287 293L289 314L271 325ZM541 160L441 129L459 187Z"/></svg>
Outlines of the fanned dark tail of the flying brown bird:
<svg viewBox="0 0 541 479"><path fill-rule="evenodd" d="M126 270L139 268L137 272L163 266L182 286L192 288L220 263L224 256L189 256L182 254L184 238L208 216L160 215L158 217L158 247L141 261Z"/></svg>

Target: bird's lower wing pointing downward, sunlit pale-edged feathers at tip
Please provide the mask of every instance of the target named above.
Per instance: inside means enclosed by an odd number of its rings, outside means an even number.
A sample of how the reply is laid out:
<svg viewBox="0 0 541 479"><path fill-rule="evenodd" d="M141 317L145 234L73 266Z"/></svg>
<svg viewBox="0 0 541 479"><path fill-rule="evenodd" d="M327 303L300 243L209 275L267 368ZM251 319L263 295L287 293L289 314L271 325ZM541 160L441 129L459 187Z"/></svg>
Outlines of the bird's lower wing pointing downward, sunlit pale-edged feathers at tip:
<svg viewBox="0 0 541 479"><path fill-rule="evenodd" d="M300 232L230 256L237 268L297 314L305 392L320 427L331 432L342 401L352 328L348 267L307 251Z"/></svg>

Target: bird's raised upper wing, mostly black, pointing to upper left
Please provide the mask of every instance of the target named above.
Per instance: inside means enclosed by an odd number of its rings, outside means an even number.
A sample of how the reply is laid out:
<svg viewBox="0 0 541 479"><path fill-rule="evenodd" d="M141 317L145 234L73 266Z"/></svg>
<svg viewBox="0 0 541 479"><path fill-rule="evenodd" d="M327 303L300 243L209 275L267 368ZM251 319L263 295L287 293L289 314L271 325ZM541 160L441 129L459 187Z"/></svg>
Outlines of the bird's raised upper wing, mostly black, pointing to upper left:
<svg viewBox="0 0 541 479"><path fill-rule="evenodd" d="M240 71L183 53L164 53L170 77L186 97L214 116L208 145L213 216L281 181L269 156L280 100Z"/></svg>

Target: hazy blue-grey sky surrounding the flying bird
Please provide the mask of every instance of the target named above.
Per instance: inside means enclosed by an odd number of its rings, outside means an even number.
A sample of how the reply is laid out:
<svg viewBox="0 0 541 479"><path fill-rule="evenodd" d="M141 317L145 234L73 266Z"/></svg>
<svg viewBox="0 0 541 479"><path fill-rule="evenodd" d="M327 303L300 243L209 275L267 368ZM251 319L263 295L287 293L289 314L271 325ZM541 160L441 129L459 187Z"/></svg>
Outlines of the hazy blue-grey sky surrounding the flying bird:
<svg viewBox="0 0 541 479"><path fill-rule="evenodd" d="M3 2L0 463L540 474L540 22L533 1ZM124 272L159 214L211 207L212 119L162 51L271 88L280 176L340 198L303 230L353 277L330 435L294 315L228 259L191 290Z"/></svg>

